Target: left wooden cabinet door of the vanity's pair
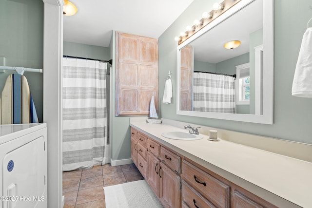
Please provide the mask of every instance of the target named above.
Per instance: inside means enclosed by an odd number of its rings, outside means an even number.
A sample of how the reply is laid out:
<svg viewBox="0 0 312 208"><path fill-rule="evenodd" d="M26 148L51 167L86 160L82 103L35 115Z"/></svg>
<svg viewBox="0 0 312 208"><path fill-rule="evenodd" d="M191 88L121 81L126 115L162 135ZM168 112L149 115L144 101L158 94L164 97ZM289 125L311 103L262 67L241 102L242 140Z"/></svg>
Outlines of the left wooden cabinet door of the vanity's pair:
<svg viewBox="0 0 312 208"><path fill-rule="evenodd" d="M159 171L160 160L151 152L147 153L147 183L150 185L157 197L159 197Z"/></svg>

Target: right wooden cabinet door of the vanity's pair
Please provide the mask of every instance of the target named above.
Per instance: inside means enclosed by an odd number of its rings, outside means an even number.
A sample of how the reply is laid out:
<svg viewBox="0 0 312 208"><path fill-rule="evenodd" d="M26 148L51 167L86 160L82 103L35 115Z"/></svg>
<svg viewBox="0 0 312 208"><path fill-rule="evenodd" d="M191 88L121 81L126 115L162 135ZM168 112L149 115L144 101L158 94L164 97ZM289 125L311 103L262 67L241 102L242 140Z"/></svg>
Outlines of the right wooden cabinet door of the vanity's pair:
<svg viewBox="0 0 312 208"><path fill-rule="evenodd" d="M160 192L159 198L162 205L166 208L181 207L181 177L173 170L169 169L162 162L159 168Z"/></svg>

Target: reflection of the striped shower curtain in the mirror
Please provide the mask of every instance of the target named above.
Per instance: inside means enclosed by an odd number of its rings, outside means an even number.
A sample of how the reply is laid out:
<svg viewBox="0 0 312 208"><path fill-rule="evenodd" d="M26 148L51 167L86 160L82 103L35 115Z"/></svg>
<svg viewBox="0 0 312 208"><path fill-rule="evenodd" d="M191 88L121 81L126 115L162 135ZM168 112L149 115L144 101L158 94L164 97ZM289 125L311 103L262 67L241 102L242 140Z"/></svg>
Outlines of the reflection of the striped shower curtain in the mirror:
<svg viewBox="0 0 312 208"><path fill-rule="evenodd" d="M193 110L200 112L234 113L235 78L209 73L194 73Z"/></svg>

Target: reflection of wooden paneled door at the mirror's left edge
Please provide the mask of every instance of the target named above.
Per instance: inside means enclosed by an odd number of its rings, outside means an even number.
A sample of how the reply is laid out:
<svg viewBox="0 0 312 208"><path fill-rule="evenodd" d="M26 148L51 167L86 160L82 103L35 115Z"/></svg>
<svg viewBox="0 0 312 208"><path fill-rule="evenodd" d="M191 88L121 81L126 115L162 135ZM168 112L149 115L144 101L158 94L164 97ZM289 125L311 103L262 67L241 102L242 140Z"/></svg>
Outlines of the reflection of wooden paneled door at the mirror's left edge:
<svg viewBox="0 0 312 208"><path fill-rule="evenodd" d="M180 56L180 110L192 111L193 47L183 47L180 51Z"/></svg>

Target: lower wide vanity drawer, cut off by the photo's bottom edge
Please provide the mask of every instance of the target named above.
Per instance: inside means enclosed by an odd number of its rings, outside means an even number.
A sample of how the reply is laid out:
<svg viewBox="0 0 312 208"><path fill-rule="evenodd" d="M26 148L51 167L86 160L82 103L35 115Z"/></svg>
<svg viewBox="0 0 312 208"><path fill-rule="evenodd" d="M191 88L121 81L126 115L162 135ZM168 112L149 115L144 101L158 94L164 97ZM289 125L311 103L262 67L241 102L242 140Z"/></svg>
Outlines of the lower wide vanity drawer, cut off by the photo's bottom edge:
<svg viewBox="0 0 312 208"><path fill-rule="evenodd" d="M182 181L182 204L189 208L216 208L215 205L205 199L200 193Z"/></svg>

